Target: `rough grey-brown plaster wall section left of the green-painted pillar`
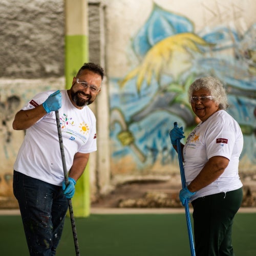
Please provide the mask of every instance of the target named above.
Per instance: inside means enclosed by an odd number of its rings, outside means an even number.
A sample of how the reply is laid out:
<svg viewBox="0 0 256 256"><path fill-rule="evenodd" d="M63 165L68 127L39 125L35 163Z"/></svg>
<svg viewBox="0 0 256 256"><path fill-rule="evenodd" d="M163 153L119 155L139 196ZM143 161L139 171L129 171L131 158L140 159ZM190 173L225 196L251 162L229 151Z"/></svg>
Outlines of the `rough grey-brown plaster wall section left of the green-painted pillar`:
<svg viewBox="0 0 256 256"><path fill-rule="evenodd" d="M0 77L64 75L65 14L61 0L2 0Z"/></svg>

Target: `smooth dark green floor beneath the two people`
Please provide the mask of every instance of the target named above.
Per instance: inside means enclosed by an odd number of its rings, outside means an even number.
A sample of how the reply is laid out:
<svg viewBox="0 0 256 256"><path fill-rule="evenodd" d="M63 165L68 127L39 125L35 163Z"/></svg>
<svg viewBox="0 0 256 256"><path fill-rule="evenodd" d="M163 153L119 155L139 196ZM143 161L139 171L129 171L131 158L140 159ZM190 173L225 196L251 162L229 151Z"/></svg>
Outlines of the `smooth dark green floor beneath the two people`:
<svg viewBox="0 0 256 256"><path fill-rule="evenodd" d="M76 218L81 256L190 255L184 214L91 215ZM0 216L0 255L28 255L20 216ZM256 255L256 214L237 214L233 225L236 256ZM66 219L57 256L75 255Z"/></svg>

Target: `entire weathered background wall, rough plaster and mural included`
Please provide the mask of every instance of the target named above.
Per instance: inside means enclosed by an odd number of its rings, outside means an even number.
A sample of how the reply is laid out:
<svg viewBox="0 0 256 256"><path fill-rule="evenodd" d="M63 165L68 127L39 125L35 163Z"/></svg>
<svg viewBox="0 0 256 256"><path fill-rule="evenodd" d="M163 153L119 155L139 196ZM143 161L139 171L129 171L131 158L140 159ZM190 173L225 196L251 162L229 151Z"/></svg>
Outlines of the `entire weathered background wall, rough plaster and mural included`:
<svg viewBox="0 0 256 256"><path fill-rule="evenodd" d="M124 180L179 172L168 132L174 121L186 134L196 125L187 86L208 74L225 83L228 112L244 132L240 170L255 172L255 1L89 3L89 57L107 74L92 106L99 148L91 161L92 200ZM0 197L6 200L24 136L11 128L14 113L35 93L65 87L65 14L62 0L2 0L0 13Z"/></svg>

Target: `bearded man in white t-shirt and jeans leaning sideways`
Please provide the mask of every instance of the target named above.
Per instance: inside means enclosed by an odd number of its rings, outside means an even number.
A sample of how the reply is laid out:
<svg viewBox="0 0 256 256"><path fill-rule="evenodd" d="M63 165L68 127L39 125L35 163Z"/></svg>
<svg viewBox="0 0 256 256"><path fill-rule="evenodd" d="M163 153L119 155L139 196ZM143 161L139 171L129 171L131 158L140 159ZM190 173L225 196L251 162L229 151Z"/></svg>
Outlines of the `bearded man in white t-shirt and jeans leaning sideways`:
<svg viewBox="0 0 256 256"><path fill-rule="evenodd" d="M14 118L26 130L14 163L13 192L18 200L30 255L55 255L68 199L96 146L96 119L89 108L100 92L103 69L84 63L70 90L34 96ZM55 111L59 111L69 184L65 185Z"/></svg>

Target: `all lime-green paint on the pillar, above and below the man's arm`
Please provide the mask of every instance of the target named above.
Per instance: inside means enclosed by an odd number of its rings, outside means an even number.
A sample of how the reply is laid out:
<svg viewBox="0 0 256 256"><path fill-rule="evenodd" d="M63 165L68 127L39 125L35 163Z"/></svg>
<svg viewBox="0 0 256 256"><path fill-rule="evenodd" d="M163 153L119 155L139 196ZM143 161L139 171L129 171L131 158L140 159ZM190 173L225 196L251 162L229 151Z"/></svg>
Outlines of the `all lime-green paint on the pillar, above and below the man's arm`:
<svg viewBox="0 0 256 256"><path fill-rule="evenodd" d="M66 35L65 37L65 77L66 89L72 86L73 77L84 62L88 62L89 38L86 35ZM88 217L90 215L90 175L89 162L83 175L76 183L76 192L72 198L75 217Z"/></svg>

